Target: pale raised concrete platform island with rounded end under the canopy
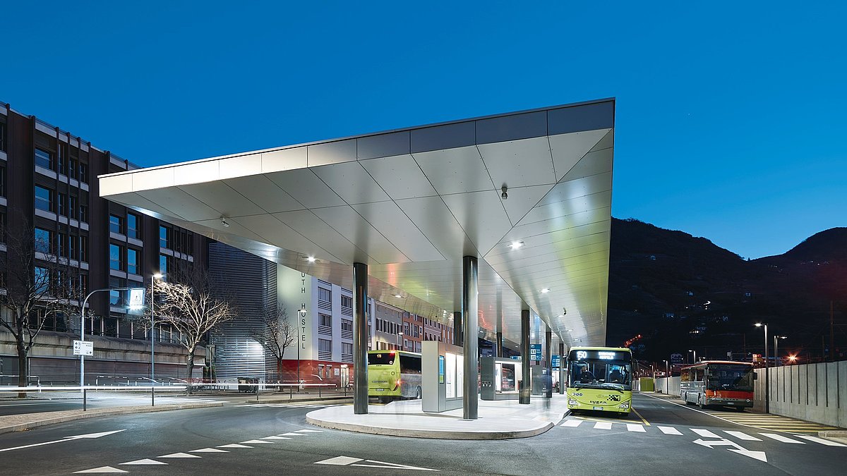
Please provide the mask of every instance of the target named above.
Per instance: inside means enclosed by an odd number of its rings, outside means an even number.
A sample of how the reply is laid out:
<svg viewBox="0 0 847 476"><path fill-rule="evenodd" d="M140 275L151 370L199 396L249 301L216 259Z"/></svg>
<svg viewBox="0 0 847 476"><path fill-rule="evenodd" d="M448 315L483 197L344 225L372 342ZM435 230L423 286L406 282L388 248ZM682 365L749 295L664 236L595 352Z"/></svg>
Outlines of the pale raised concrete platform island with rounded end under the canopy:
<svg viewBox="0 0 847 476"><path fill-rule="evenodd" d="M328 407L306 415L313 425L357 433L445 440L508 440L528 438L553 428L567 415L565 396L533 396L529 405L516 400L479 401L479 419L465 420L462 409L426 413L420 400L370 405L367 415L352 406Z"/></svg>

